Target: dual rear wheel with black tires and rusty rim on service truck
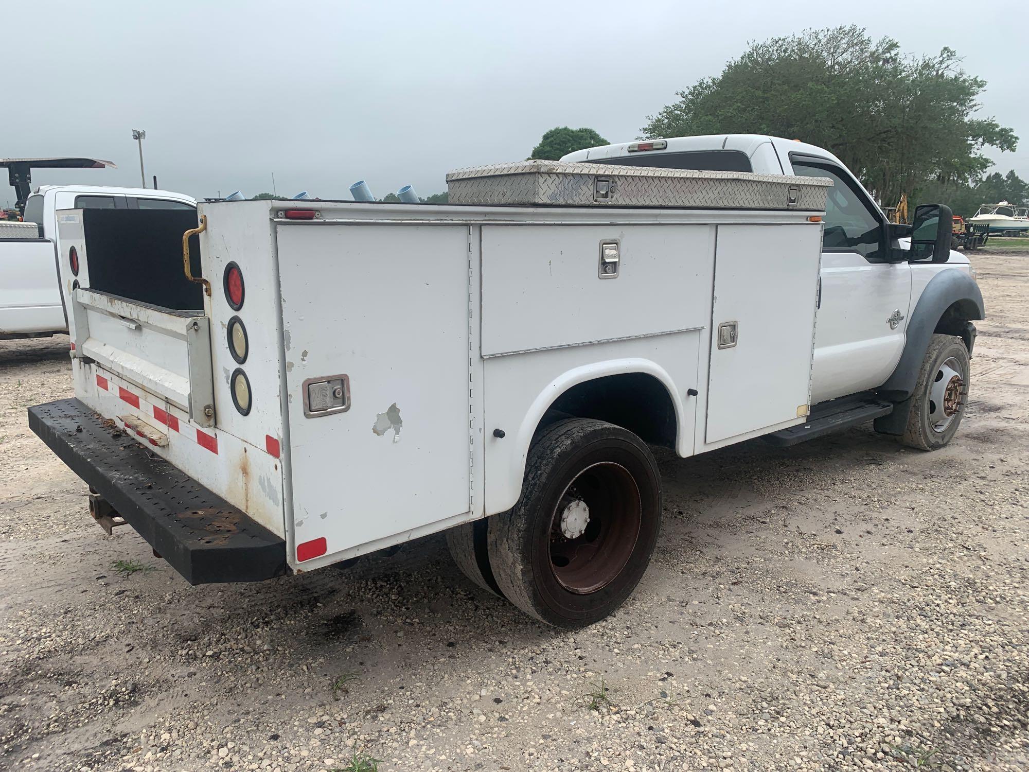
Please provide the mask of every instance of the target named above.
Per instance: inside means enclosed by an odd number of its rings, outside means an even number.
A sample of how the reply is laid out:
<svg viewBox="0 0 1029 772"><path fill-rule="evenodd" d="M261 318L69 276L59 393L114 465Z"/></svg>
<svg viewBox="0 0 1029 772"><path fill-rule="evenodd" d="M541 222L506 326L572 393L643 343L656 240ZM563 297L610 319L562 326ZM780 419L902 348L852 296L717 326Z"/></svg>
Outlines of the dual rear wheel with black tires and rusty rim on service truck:
<svg viewBox="0 0 1029 772"><path fill-rule="evenodd" d="M526 613L591 625L639 584L661 513L658 464L638 436L603 421L558 421L529 449L514 508L487 519L493 575Z"/></svg>

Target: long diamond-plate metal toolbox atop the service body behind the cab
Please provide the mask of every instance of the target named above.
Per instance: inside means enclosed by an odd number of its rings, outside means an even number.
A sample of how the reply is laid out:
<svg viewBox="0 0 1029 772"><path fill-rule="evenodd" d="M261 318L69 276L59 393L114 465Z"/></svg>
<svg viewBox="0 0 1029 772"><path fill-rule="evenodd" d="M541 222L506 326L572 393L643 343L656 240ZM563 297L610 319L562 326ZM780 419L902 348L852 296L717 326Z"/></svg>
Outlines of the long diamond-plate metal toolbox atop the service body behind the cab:
<svg viewBox="0 0 1029 772"><path fill-rule="evenodd" d="M789 209L821 212L832 181L752 172L520 161L447 175L451 204Z"/></svg>

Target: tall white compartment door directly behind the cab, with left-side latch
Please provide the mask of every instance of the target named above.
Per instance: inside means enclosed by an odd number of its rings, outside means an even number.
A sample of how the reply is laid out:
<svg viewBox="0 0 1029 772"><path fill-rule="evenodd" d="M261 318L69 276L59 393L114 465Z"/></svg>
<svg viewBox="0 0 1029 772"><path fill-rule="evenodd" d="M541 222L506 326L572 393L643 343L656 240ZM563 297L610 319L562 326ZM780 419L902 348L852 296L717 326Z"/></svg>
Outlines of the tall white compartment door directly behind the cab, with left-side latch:
<svg viewBox="0 0 1029 772"><path fill-rule="evenodd" d="M719 225L705 441L808 414L821 229Z"/></svg>

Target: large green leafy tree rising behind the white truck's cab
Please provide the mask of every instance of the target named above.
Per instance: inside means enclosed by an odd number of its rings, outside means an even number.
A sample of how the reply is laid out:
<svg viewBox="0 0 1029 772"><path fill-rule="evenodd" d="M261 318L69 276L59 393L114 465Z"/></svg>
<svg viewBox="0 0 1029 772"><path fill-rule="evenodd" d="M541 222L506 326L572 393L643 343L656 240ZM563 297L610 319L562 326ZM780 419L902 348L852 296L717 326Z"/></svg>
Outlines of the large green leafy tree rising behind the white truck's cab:
<svg viewBox="0 0 1029 772"><path fill-rule="evenodd" d="M802 139L831 150L891 204L932 180L973 183L991 165L984 147L1018 144L1010 129L978 116L986 82L960 63L951 48L906 56L856 26L807 30L751 43L720 75L678 92L642 133Z"/></svg>

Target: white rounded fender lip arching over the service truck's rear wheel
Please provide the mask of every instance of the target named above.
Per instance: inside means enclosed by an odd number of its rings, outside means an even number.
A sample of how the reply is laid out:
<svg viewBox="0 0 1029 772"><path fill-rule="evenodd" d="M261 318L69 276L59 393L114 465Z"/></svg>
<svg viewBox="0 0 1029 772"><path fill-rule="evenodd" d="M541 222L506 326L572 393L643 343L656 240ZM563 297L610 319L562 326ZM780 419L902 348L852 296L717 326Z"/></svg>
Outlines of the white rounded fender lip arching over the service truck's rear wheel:
<svg viewBox="0 0 1029 772"><path fill-rule="evenodd" d="M503 442L508 443L511 440L514 442L510 444L510 446L513 447L511 447L510 450L504 454L506 459L501 461L501 459L493 456L496 461L500 461L499 466L501 466L501 469L497 469L496 471L491 469L488 472L487 479L490 479L491 475L503 475L506 480L511 481L511 484L499 486L497 490L493 491L489 490L490 486L488 486L486 494L486 514L494 515L506 512L518 502L518 497L522 490L522 479L525 477L525 464L529 456L529 447L532 444L532 438L536 433L536 428L539 426L540 421L543 420L543 416L546 414L546 411L552 405L554 405L558 397L560 397L568 389L573 386L577 386L580 383L593 381L598 378L604 378L605 376L628 375L632 373L642 373L652 376L665 387L672 400L672 406L675 409L675 425L676 427L680 427L683 410L682 396L675 388L675 384L673 383L668 372L649 359L635 357L609 359L605 361L591 362L590 364L584 364L582 366L566 371L551 381L551 383L540 390L540 392L532 400L529 409L526 411L525 416L519 424L516 435L510 436L510 434L514 432L508 432L508 437ZM680 435L678 437L679 441L682 441L681 432L677 431L676 433L677 435ZM691 442L693 437L689 440ZM491 455L492 454L489 452L487 453L488 464L490 462ZM502 471L502 467L504 466L507 467L506 471Z"/></svg>

